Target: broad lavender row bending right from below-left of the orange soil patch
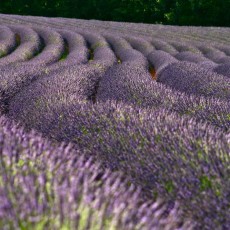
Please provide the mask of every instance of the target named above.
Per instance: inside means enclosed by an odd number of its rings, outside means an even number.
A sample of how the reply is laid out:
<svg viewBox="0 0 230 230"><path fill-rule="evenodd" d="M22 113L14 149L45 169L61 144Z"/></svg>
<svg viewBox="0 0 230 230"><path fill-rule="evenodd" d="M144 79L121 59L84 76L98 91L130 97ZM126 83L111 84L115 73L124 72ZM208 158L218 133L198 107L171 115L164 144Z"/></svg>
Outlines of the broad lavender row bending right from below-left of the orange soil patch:
<svg viewBox="0 0 230 230"><path fill-rule="evenodd" d="M153 81L143 66L123 63L111 68L100 81L98 101L115 100L139 107L166 108L181 115L230 129L229 103L173 91Z"/></svg>

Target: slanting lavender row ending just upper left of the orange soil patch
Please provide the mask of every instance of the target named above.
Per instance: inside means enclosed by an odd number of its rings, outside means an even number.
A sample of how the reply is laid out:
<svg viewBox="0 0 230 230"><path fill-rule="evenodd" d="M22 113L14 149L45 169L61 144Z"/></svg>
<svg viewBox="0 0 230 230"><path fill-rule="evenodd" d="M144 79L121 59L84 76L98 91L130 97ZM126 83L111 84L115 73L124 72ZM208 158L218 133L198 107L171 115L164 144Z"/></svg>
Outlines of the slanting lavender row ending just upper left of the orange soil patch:
<svg viewBox="0 0 230 230"><path fill-rule="evenodd" d="M134 50L124 38L116 36L112 37L110 35L106 36L106 39L121 62L130 62L135 65L148 66L148 61L144 55L141 52Z"/></svg>

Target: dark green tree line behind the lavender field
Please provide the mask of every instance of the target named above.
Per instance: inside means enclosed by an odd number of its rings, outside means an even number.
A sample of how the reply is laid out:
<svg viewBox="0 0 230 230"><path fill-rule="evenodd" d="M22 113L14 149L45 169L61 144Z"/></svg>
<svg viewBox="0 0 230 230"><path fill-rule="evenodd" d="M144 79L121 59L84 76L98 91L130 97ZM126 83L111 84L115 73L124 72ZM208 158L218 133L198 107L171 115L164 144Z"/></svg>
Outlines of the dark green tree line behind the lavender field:
<svg viewBox="0 0 230 230"><path fill-rule="evenodd" d="M230 0L0 0L0 13L230 26Z"/></svg>

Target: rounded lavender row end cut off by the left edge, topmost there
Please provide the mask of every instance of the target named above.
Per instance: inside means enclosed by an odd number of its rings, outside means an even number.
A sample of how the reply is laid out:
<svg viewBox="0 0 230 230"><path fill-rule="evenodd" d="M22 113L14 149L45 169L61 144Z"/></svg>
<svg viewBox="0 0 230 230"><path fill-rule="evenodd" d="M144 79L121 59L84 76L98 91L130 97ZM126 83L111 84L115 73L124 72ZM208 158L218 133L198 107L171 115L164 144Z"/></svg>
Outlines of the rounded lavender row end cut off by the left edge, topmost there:
<svg viewBox="0 0 230 230"><path fill-rule="evenodd" d="M17 43L13 31L6 26L0 27L0 58L14 50Z"/></svg>

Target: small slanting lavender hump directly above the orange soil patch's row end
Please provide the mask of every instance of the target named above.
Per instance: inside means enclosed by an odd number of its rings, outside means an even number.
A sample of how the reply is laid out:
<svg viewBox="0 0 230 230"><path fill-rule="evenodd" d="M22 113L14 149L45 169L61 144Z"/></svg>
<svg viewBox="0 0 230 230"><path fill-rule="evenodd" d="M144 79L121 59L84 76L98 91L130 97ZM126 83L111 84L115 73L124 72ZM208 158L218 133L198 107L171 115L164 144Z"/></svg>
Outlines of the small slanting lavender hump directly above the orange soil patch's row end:
<svg viewBox="0 0 230 230"><path fill-rule="evenodd" d="M154 49L155 49L150 42L146 41L143 38L127 36L127 37L125 37L125 39L129 42L129 44L134 49L143 53L144 56L148 56L148 54L151 53L152 51L154 51Z"/></svg>

